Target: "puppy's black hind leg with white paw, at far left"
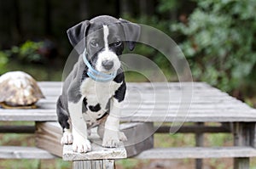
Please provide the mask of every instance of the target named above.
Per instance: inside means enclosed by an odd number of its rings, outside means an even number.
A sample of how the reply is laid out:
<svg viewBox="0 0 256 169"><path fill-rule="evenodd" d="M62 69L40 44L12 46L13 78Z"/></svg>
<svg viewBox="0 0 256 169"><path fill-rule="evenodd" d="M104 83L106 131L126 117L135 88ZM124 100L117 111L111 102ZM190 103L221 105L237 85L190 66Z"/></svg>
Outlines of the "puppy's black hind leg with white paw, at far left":
<svg viewBox="0 0 256 169"><path fill-rule="evenodd" d="M61 144L73 144L73 135L69 124L69 117L67 111L64 110L61 104L61 96L57 101L57 115L58 121L62 127L63 136L61 138Z"/></svg>

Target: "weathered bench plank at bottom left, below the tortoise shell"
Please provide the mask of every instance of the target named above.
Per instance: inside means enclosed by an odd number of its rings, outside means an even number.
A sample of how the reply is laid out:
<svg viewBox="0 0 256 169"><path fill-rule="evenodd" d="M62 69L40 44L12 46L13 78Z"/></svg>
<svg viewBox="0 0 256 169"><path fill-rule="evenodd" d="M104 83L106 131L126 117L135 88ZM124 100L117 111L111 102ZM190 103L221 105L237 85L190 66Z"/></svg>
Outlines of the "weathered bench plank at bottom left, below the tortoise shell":
<svg viewBox="0 0 256 169"><path fill-rule="evenodd" d="M53 159L55 155L51 155L44 149L36 147L21 146L0 146L1 159Z"/></svg>

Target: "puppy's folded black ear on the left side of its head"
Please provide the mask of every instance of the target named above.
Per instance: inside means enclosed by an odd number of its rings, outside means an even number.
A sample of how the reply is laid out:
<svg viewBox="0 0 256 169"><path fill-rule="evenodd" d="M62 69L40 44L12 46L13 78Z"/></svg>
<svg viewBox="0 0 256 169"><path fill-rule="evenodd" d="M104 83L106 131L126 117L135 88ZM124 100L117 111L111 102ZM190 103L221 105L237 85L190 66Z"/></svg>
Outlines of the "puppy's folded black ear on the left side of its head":
<svg viewBox="0 0 256 169"><path fill-rule="evenodd" d="M69 42L72 44L73 48L82 54L85 48L85 40L86 31L90 26L89 20L84 20L80 22L78 25L74 25L73 27L67 30L67 37Z"/></svg>

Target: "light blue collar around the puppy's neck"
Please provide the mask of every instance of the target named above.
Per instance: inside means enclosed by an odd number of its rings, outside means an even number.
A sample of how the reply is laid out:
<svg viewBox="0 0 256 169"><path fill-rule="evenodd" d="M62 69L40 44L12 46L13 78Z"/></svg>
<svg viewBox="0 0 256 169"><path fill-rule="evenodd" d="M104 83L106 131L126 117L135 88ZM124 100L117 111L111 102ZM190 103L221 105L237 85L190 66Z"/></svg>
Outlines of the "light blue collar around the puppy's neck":
<svg viewBox="0 0 256 169"><path fill-rule="evenodd" d="M117 71L114 71L111 74L102 73L101 71L97 71L93 69L93 67L90 65L89 61L86 59L86 52L84 50L83 54L83 60L84 64L87 65L87 75L90 76L91 79L93 79L96 82L110 82L114 79L114 77L117 74Z"/></svg>

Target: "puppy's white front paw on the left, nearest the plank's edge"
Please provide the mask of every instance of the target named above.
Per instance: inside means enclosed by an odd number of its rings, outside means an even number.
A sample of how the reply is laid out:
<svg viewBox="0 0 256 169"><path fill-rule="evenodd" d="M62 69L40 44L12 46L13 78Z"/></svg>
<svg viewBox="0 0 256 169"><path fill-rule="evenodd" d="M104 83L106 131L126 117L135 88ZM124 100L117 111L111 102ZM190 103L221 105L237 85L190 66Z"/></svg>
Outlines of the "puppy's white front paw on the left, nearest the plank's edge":
<svg viewBox="0 0 256 169"><path fill-rule="evenodd" d="M88 139L83 139L79 141L74 140L72 149L75 152L86 153L91 150L90 141Z"/></svg>

